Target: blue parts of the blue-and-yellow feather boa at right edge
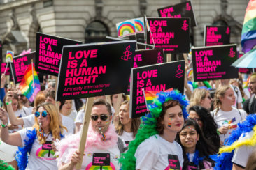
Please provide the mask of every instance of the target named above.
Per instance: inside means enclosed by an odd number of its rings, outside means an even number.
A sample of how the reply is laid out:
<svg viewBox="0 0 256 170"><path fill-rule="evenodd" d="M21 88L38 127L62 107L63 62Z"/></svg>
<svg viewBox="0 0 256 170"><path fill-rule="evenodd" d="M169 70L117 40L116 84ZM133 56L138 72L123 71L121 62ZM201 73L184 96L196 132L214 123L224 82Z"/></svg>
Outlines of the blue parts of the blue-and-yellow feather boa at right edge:
<svg viewBox="0 0 256 170"><path fill-rule="evenodd" d="M256 125L256 115L250 114L246 117L246 121L243 121L242 123L238 123L238 127L236 130L234 130L229 138L225 141L225 146L231 146L235 141L239 139L241 134L243 134L243 137L247 132L250 132L253 130L253 127ZM210 158L216 162L215 168L217 170L222 169L232 169L232 157L234 155L234 150L231 153L221 153L220 155L211 155Z"/></svg>

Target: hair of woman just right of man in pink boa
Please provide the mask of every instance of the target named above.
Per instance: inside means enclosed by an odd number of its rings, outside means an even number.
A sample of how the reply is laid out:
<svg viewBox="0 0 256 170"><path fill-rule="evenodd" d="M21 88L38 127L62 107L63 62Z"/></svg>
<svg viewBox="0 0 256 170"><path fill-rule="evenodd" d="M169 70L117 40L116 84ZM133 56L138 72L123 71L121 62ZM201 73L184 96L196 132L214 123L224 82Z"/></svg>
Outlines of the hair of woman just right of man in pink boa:
<svg viewBox="0 0 256 170"><path fill-rule="evenodd" d="M120 107L122 105L128 105L128 107L129 107L129 101L125 100L124 102L121 103ZM119 113L118 113L118 115L119 115ZM133 137L136 136L136 134L138 132L138 127L140 125L141 125L141 119L140 118L132 118L131 119L131 132L133 134ZM116 125L115 130L119 135L122 135L122 133L124 132L124 125L122 125L119 116L118 116L118 124Z"/></svg>

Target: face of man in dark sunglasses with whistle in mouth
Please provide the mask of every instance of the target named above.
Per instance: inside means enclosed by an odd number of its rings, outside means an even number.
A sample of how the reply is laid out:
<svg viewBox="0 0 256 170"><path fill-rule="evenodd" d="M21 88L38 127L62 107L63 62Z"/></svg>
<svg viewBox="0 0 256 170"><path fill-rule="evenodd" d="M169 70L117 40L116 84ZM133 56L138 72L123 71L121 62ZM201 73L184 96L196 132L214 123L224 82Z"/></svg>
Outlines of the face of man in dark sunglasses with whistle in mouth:
<svg viewBox="0 0 256 170"><path fill-rule="evenodd" d="M95 118L95 120L91 118L92 129L98 133L105 133L112 120L111 113L108 112L107 107L105 105L95 105L92 107L91 116ZM107 117L106 120L101 120L104 117Z"/></svg>

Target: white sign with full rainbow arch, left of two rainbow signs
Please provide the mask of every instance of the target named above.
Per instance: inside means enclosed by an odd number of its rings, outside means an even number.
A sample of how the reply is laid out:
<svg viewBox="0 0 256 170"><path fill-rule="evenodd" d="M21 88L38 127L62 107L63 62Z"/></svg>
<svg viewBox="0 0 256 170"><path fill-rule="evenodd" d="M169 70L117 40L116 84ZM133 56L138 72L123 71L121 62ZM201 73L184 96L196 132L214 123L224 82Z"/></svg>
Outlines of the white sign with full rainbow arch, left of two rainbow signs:
<svg viewBox="0 0 256 170"><path fill-rule="evenodd" d="M116 28L118 30L119 38L134 35L135 34L134 19L126 20L125 22L119 22L118 24L116 24Z"/></svg>

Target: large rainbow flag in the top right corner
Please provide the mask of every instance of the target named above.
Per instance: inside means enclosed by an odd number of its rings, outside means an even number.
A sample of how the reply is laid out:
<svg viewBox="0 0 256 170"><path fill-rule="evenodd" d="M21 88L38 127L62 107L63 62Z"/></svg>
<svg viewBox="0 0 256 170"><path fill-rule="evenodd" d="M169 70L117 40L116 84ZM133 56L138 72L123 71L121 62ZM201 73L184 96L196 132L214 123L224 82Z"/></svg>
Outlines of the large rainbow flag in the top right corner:
<svg viewBox="0 0 256 170"><path fill-rule="evenodd" d="M241 45L244 53L249 52L256 45L256 0L250 0L246 8Z"/></svg>

